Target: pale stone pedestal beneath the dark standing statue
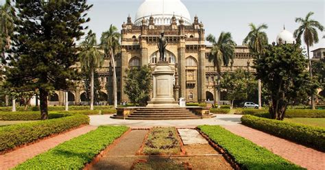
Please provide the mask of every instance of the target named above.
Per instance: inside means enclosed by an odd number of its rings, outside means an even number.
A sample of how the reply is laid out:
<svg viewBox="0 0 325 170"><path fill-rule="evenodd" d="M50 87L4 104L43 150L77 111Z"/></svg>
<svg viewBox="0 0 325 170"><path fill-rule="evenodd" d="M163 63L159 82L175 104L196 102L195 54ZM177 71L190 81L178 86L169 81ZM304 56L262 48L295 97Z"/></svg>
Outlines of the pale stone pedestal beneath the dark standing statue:
<svg viewBox="0 0 325 170"><path fill-rule="evenodd" d="M175 65L168 62L158 62L152 75L154 77L154 96L148 101L149 108L175 108L180 107L173 98L173 75Z"/></svg>

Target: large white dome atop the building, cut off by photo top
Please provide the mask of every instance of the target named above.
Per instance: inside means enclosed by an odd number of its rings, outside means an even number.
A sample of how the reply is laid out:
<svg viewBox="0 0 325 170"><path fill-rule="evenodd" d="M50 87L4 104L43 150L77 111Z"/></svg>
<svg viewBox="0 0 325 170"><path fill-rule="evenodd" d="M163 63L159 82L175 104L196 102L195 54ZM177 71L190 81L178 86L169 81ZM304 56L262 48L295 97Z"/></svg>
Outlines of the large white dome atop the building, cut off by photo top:
<svg viewBox="0 0 325 170"><path fill-rule="evenodd" d="M134 24L141 25L143 18L149 21L153 16L155 25L169 25L173 15L177 22L182 18L184 25L191 25L189 10L180 0L145 0L136 12Z"/></svg>

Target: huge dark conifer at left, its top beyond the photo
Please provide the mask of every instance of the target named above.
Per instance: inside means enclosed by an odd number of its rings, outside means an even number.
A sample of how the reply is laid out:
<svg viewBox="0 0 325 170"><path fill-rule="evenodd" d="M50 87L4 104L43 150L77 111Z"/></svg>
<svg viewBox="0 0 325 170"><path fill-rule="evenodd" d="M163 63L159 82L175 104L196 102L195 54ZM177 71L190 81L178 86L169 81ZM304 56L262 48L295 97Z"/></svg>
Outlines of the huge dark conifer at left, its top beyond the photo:
<svg viewBox="0 0 325 170"><path fill-rule="evenodd" d="M66 90L77 75L71 68L80 51L75 40L84 35L86 0L16 0L12 53L6 78L19 91L40 93L41 119L47 119L47 97L53 90Z"/></svg>

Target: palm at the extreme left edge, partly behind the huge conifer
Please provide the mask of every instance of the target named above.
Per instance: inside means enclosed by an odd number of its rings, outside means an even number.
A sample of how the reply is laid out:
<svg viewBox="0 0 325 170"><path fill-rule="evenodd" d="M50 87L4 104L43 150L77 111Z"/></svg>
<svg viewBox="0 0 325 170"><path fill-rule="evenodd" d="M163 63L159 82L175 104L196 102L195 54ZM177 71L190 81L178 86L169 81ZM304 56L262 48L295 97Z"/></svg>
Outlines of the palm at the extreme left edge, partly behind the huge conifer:
<svg viewBox="0 0 325 170"><path fill-rule="evenodd" d="M1 33L1 41L0 41L0 51L1 51L1 71L2 64L7 64L5 60L5 51L10 49L11 36L14 32L14 13L13 8L10 5L10 0L6 0L3 5L0 5L0 33ZM2 74L2 73L1 73ZM5 106L9 105L9 97L5 95Z"/></svg>

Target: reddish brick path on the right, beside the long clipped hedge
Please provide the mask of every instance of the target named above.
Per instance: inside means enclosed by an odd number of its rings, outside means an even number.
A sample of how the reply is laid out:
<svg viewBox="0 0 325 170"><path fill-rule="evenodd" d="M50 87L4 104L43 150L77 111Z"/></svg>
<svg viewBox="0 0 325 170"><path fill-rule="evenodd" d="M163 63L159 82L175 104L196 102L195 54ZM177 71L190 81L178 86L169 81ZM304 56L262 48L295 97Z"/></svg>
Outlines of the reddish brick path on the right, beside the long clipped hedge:
<svg viewBox="0 0 325 170"><path fill-rule="evenodd" d="M292 143L245 125L222 125L230 132L265 147L274 154L307 169L325 169L325 153Z"/></svg>

